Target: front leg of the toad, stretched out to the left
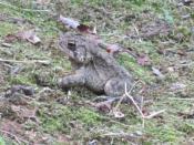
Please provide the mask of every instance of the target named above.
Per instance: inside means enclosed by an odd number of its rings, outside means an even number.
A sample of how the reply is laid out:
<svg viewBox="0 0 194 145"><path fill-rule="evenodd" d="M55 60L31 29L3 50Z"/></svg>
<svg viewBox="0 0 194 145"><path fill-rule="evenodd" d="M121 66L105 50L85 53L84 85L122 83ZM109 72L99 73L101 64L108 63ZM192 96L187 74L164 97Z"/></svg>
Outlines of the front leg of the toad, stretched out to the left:
<svg viewBox="0 0 194 145"><path fill-rule="evenodd" d="M75 74L71 74L68 76L64 76L59 80L58 82L59 86L63 90L73 87L73 86L80 86L85 84L85 75L83 70L78 70Z"/></svg>

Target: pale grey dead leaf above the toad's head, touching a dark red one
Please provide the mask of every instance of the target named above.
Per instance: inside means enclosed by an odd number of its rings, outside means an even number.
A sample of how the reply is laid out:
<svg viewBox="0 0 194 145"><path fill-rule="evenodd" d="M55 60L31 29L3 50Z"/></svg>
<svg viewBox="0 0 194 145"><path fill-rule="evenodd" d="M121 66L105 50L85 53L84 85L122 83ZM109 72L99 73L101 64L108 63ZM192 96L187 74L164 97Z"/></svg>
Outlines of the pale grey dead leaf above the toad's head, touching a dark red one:
<svg viewBox="0 0 194 145"><path fill-rule="evenodd" d="M75 21L71 18L65 18L63 15L59 17L59 21L61 21L67 28L76 29L80 25L79 21Z"/></svg>

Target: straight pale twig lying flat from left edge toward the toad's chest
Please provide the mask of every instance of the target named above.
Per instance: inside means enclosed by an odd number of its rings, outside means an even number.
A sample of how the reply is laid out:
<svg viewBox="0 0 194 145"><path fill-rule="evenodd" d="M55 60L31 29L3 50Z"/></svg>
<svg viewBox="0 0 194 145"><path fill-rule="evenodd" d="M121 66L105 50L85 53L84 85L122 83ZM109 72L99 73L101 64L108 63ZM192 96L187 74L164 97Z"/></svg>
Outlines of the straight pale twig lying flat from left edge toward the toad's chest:
<svg viewBox="0 0 194 145"><path fill-rule="evenodd" d="M50 64L50 61L42 61L42 60L24 60L24 61L18 61L18 60L3 60L0 58L0 62L13 62L13 63L43 63L43 64Z"/></svg>

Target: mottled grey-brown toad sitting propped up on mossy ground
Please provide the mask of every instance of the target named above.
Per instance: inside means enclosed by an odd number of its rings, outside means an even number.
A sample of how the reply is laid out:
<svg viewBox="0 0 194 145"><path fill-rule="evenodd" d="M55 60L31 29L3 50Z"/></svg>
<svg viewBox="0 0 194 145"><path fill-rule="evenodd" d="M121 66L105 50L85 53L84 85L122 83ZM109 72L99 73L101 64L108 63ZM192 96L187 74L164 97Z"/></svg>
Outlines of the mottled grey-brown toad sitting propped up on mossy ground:
<svg viewBox="0 0 194 145"><path fill-rule="evenodd" d="M104 49L84 35L64 33L60 37L59 45L64 52L75 72L60 79L62 89L86 86L95 93L108 96L121 96L124 85L131 87L132 75Z"/></svg>

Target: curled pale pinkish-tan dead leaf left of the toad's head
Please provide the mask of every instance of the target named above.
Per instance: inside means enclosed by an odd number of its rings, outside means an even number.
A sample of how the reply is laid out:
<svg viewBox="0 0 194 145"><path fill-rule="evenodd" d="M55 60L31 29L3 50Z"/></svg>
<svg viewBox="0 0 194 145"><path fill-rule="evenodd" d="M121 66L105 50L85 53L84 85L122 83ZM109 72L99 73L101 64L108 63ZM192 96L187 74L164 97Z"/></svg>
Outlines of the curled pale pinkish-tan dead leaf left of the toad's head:
<svg viewBox="0 0 194 145"><path fill-rule="evenodd" d="M21 40L27 40L27 41L31 42L32 44L38 44L41 42L40 38L37 37L33 29L18 32L17 37Z"/></svg>

